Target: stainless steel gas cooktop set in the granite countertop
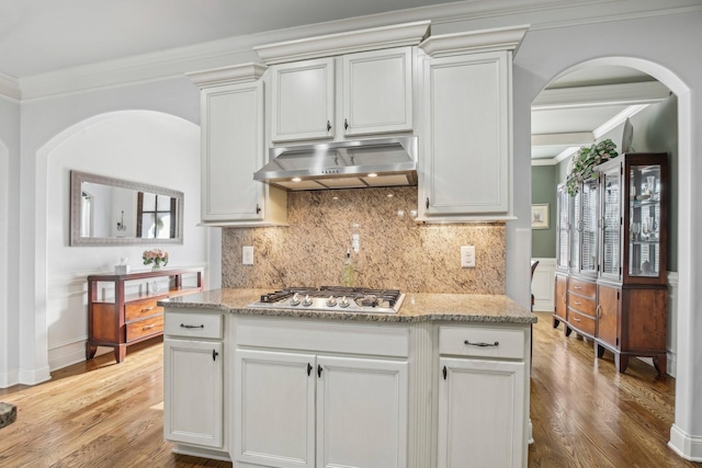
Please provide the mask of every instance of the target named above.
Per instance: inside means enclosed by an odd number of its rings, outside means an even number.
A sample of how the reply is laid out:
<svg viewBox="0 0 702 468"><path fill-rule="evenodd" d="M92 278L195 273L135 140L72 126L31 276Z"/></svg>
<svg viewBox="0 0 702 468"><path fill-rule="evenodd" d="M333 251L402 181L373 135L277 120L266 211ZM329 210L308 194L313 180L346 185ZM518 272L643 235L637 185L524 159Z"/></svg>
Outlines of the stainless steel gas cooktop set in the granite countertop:
<svg viewBox="0 0 702 468"><path fill-rule="evenodd" d="M310 309L340 312L397 313L405 295L399 289L320 286L288 287L264 294L248 307L267 309Z"/></svg>

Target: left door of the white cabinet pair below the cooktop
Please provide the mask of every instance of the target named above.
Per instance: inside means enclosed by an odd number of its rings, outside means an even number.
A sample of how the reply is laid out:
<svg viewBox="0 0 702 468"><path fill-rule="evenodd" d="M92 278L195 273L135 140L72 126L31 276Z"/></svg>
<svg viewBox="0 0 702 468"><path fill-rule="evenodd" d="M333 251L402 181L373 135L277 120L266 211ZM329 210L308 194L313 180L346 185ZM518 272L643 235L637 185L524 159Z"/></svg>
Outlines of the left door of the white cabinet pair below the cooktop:
<svg viewBox="0 0 702 468"><path fill-rule="evenodd" d="M267 467L315 466L315 356L237 350L234 458Z"/></svg>

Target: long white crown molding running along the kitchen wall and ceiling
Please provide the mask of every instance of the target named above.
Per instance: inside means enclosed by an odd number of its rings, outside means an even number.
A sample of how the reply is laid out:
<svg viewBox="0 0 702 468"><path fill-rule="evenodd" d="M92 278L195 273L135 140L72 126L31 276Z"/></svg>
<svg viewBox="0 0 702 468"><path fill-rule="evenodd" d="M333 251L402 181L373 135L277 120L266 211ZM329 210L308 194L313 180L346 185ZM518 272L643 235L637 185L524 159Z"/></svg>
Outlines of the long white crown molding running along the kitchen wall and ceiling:
<svg viewBox="0 0 702 468"><path fill-rule="evenodd" d="M0 94L33 101L140 82L184 78L194 70L259 61L254 47L399 23L430 21L434 33L529 23L530 31L702 11L699 0L467 0L269 31L95 62L49 73L0 78ZM453 31L452 31L453 30ZM18 85L19 82L19 85Z"/></svg>

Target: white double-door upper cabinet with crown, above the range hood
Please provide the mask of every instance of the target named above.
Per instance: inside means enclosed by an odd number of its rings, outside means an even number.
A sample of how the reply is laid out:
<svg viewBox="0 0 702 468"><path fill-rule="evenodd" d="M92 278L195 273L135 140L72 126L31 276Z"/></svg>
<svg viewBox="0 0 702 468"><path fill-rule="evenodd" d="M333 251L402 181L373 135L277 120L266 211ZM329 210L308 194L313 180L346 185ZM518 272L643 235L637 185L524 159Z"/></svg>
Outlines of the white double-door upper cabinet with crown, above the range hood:
<svg viewBox="0 0 702 468"><path fill-rule="evenodd" d="M411 133L428 21L254 47L271 66L273 144Z"/></svg>

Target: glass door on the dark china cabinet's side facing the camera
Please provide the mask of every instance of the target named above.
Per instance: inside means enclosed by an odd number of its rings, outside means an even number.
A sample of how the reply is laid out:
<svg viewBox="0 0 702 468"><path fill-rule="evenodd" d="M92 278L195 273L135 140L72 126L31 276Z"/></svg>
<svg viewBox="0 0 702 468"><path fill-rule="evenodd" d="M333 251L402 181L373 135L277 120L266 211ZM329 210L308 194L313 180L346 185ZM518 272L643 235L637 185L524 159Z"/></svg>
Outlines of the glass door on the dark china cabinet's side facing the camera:
<svg viewBox="0 0 702 468"><path fill-rule="evenodd" d="M660 274L660 165L631 165L629 276Z"/></svg>

